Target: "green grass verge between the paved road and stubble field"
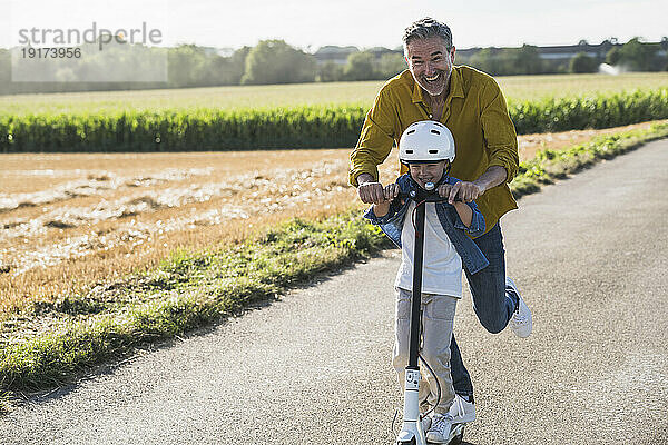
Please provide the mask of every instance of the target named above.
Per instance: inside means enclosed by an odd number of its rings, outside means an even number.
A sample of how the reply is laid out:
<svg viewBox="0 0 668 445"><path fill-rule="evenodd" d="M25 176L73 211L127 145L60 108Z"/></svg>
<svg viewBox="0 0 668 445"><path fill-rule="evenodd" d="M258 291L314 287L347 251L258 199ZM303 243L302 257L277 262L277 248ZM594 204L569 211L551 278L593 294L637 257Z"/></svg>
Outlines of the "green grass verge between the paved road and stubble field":
<svg viewBox="0 0 668 445"><path fill-rule="evenodd" d="M512 182L517 197L600 159L668 136L668 123L543 150ZM178 251L158 268L37 305L46 329L0 344L0 412L18 395L70 382L91 366L238 314L315 274L369 258L391 244L358 210L321 221L293 219L255 239L206 251ZM2 326L1 328L4 328Z"/></svg>

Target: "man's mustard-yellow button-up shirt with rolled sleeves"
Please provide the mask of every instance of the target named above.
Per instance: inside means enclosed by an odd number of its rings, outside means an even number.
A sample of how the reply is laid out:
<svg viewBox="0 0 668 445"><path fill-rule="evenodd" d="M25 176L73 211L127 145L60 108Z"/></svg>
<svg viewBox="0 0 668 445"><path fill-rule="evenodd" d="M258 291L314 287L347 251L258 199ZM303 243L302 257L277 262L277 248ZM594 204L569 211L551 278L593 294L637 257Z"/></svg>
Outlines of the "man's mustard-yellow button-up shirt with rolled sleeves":
<svg viewBox="0 0 668 445"><path fill-rule="evenodd" d="M377 166L399 144L406 127L431 119L431 115L422 89L409 70L390 79L366 113L360 140L351 154L351 185L357 186L361 174L370 174L377 180ZM475 200L489 230L501 216L518 208L508 187L518 172L518 138L499 85L473 68L454 67L441 122L454 137L451 176L472 181L491 166L505 169L505 181ZM401 166L400 174L406 171L407 168Z"/></svg>

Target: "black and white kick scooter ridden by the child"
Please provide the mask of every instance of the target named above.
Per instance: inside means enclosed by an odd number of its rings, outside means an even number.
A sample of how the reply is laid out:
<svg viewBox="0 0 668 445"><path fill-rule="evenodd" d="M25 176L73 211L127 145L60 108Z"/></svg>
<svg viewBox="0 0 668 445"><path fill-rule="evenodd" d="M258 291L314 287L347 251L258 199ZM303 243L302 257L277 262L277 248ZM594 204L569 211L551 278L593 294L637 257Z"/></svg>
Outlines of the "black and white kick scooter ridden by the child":
<svg viewBox="0 0 668 445"><path fill-rule="evenodd" d="M422 428L420 416L420 399L418 389L420 386L420 366L418 365L420 350L420 327L422 314L420 310L422 299L422 261L424 251L424 205L425 202L442 202L448 198L441 198L434 190L432 182L425 184L425 189L412 190L409 197L416 202L415 207L415 253L413 258L413 295L411 301L411 332L409 346L409 365L406 366L406 378L404 386L403 426L399 436L397 445L426 445L426 432ZM438 403L438 402L436 402ZM445 444L460 445L464 437L464 424L452 424L450 435Z"/></svg>

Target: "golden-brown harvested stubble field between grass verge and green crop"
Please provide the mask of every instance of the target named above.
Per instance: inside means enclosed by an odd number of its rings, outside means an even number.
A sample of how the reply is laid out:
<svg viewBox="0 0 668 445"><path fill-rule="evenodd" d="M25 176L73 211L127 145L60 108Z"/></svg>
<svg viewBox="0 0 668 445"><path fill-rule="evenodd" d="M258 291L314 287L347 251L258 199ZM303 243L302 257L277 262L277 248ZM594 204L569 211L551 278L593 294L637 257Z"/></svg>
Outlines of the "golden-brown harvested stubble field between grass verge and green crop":
<svg viewBox="0 0 668 445"><path fill-rule="evenodd" d="M528 135L520 156L648 126ZM348 154L0 155L0 322L31 301L155 266L177 248L358 206ZM396 171L396 160L385 162L382 180Z"/></svg>

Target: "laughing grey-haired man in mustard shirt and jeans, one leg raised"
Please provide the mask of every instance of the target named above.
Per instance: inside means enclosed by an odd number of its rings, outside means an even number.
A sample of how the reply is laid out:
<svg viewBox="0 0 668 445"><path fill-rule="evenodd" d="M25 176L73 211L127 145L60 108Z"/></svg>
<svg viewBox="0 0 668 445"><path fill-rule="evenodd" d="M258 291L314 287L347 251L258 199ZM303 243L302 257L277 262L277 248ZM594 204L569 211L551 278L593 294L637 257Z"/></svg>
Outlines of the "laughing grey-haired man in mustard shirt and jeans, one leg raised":
<svg viewBox="0 0 668 445"><path fill-rule="evenodd" d="M455 48L450 28L425 18L406 28L404 56L409 69L389 80L366 115L360 140L351 154L350 182L363 202L384 201L377 181L382 164L404 129L433 119L444 123L455 140L456 158L450 174L462 179L450 192L466 202L475 200L487 231L474 239L490 265L477 274L464 268L480 323L497 334L510 324L520 337L531 334L531 312L517 287L505 277L505 253L499 219L515 209L508 184L519 167L514 126L497 82L472 68L454 67ZM404 174L402 167L401 174ZM450 408L453 423L475 418L473 385L454 340L451 372L456 397Z"/></svg>

